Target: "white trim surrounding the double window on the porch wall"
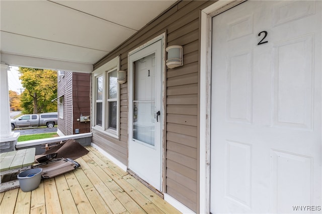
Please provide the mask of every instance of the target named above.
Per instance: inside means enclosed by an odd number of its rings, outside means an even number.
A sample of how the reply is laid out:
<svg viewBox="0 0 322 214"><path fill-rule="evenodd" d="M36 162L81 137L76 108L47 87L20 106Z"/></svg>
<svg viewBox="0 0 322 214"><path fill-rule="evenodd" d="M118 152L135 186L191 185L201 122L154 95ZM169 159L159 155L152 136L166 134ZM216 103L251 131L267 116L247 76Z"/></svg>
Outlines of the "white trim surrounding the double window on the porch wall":
<svg viewBox="0 0 322 214"><path fill-rule="evenodd" d="M108 72L111 72L113 70L119 71L120 70L120 56L115 57L111 61L107 62L103 66L99 67L95 71L93 71L93 90L92 90L92 129L98 130L100 132L103 132L111 137L118 138L120 137L120 97L121 97L121 91L120 91L120 84L117 84L117 115L116 115L116 131L112 129L108 129L108 107L107 107L107 88L108 88ZM99 76L103 76L103 100L102 100L102 126L96 125L96 78Z"/></svg>

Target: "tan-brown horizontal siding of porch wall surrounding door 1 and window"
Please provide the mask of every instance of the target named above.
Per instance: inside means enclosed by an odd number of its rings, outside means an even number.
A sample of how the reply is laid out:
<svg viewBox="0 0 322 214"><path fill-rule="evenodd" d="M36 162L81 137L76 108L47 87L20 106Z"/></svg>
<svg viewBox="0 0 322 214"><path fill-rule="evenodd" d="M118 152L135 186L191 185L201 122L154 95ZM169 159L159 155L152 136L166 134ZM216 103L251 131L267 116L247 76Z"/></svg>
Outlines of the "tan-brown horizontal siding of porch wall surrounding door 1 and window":
<svg viewBox="0 0 322 214"><path fill-rule="evenodd" d="M183 46L184 66L167 70L165 191L194 211L198 210L199 185L199 13L211 4L212 1L179 2L94 65L97 69L121 55L121 69L125 70L129 51L165 32L167 46ZM93 142L127 164L127 83L121 87L120 140L93 131Z"/></svg>

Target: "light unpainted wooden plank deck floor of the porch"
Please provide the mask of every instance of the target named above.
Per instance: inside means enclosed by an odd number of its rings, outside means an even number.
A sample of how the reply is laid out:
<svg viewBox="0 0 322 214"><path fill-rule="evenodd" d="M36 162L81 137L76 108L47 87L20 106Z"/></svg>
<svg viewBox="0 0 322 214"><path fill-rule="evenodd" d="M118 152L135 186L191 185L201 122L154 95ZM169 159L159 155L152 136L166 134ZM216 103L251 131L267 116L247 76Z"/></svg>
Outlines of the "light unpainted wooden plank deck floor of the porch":
<svg viewBox="0 0 322 214"><path fill-rule="evenodd" d="M93 147L71 172L0 194L0 213L180 213Z"/></svg>

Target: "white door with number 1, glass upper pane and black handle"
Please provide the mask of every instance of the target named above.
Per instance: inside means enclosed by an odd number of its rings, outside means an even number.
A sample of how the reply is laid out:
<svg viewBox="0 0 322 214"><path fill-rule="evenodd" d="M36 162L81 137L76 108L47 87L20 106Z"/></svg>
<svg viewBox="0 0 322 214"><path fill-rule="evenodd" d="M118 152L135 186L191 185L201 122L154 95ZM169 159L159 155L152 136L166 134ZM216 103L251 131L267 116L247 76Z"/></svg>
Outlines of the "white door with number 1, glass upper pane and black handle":
<svg viewBox="0 0 322 214"><path fill-rule="evenodd" d="M128 167L162 188L162 40L129 56Z"/></svg>

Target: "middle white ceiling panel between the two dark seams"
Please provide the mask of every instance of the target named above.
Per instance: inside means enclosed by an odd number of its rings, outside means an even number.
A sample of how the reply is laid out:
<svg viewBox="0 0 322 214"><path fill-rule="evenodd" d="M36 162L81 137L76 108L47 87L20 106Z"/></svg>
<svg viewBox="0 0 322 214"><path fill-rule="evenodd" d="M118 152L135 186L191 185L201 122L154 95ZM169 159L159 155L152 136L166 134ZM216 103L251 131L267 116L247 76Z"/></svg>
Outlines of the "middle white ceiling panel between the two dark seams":
<svg viewBox="0 0 322 214"><path fill-rule="evenodd" d="M15 13L1 13L1 30L5 32L102 51L113 50L114 44L136 32L48 1L5 2L15 6Z"/></svg>

